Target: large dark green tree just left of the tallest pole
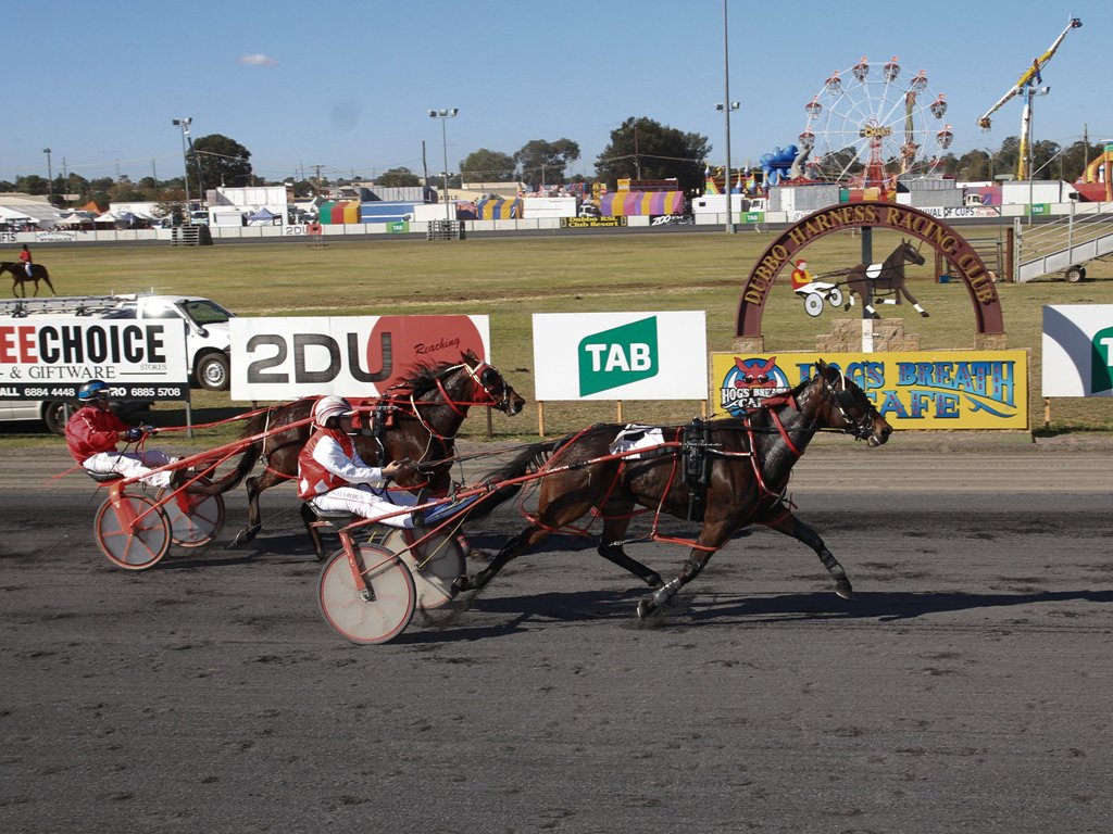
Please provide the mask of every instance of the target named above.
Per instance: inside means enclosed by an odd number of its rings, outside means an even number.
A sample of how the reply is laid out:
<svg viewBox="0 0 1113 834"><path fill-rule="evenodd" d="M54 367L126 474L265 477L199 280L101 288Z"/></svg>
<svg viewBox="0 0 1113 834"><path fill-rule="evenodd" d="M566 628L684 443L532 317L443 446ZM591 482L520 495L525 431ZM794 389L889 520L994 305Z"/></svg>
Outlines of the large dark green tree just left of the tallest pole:
<svg viewBox="0 0 1113 834"><path fill-rule="evenodd" d="M595 173L613 188L619 179L676 178L681 190L703 185L710 146L706 136L684 133L646 117L630 117L611 131L611 143L595 161Z"/></svg>

